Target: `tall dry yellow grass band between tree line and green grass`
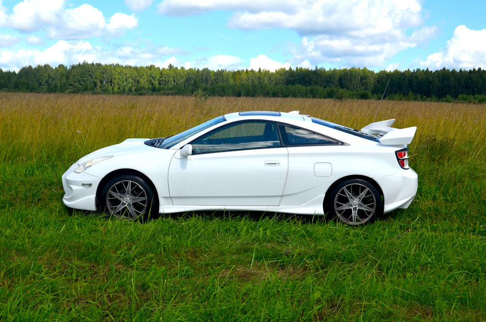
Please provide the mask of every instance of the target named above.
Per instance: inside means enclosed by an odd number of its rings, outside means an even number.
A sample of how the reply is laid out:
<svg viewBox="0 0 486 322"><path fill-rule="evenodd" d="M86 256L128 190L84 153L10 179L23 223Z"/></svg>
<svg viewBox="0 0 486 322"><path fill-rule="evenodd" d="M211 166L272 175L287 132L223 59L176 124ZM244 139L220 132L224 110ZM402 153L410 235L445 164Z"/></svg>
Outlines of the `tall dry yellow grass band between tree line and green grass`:
<svg viewBox="0 0 486 322"><path fill-rule="evenodd" d="M242 110L300 110L359 129L373 122L378 104L374 100L0 93L0 152L4 160L28 160L55 151L83 154L127 138L173 135ZM376 120L388 118L395 118L398 128L418 127L412 147L424 136L454 138L467 141L476 154L486 142L486 105L383 101Z"/></svg>

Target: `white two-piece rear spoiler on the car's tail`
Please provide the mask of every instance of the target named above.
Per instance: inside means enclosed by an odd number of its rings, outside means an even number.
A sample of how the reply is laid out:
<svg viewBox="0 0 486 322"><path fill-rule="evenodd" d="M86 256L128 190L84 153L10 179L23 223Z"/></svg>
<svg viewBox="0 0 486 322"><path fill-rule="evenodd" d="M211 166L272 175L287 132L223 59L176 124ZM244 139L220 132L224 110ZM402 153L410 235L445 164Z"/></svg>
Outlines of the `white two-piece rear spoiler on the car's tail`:
<svg viewBox="0 0 486 322"><path fill-rule="evenodd" d="M412 143L415 132L417 131L417 127L396 129L391 127L394 122L394 118L387 119L381 122L375 122L362 128L361 132L376 134L379 137L381 136L381 138L378 139L381 144L406 145Z"/></svg>

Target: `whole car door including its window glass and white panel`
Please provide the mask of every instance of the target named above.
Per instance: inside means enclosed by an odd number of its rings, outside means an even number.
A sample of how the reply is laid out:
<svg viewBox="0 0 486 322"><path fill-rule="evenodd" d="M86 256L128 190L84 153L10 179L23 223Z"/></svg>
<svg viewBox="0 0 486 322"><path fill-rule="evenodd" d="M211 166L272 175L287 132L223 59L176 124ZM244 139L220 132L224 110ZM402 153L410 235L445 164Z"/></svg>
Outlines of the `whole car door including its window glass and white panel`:
<svg viewBox="0 0 486 322"><path fill-rule="evenodd" d="M275 123L226 125L192 143L192 155L169 167L175 206L278 206L287 178L288 152Z"/></svg>

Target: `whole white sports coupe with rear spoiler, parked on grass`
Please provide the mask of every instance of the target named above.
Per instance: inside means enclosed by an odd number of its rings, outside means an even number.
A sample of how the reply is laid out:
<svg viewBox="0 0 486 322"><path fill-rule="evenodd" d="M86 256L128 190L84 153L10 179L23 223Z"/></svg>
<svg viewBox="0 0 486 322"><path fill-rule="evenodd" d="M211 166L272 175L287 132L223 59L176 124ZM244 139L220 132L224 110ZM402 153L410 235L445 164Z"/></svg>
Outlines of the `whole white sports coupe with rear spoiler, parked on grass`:
<svg viewBox="0 0 486 322"><path fill-rule="evenodd" d="M62 176L67 207L136 219L149 213L331 214L359 225L407 208L418 177L394 119L354 130L284 112L236 112L180 134L128 139Z"/></svg>

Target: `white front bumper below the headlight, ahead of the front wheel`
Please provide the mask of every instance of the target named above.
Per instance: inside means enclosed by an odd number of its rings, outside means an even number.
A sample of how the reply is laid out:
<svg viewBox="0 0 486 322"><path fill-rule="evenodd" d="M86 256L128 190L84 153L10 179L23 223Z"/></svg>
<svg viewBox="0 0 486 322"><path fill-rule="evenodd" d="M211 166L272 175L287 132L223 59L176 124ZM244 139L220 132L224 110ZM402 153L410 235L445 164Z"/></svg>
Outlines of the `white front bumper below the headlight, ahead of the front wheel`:
<svg viewBox="0 0 486 322"><path fill-rule="evenodd" d="M64 196L62 202L69 208L79 210L96 210L96 190L101 178L85 172L75 173L77 164L72 165L62 175Z"/></svg>

